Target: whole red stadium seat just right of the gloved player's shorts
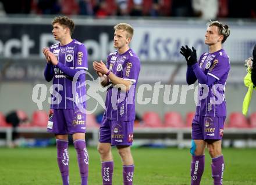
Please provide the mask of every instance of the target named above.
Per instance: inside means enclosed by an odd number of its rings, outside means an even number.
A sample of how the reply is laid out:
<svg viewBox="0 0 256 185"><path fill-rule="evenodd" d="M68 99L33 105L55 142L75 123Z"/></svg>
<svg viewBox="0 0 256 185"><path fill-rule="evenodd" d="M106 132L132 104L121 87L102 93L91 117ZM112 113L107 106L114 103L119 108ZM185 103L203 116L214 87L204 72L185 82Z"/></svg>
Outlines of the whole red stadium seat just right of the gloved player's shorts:
<svg viewBox="0 0 256 185"><path fill-rule="evenodd" d="M242 113L233 112L229 115L229 128L248 128L249 124Z"/></svg>

